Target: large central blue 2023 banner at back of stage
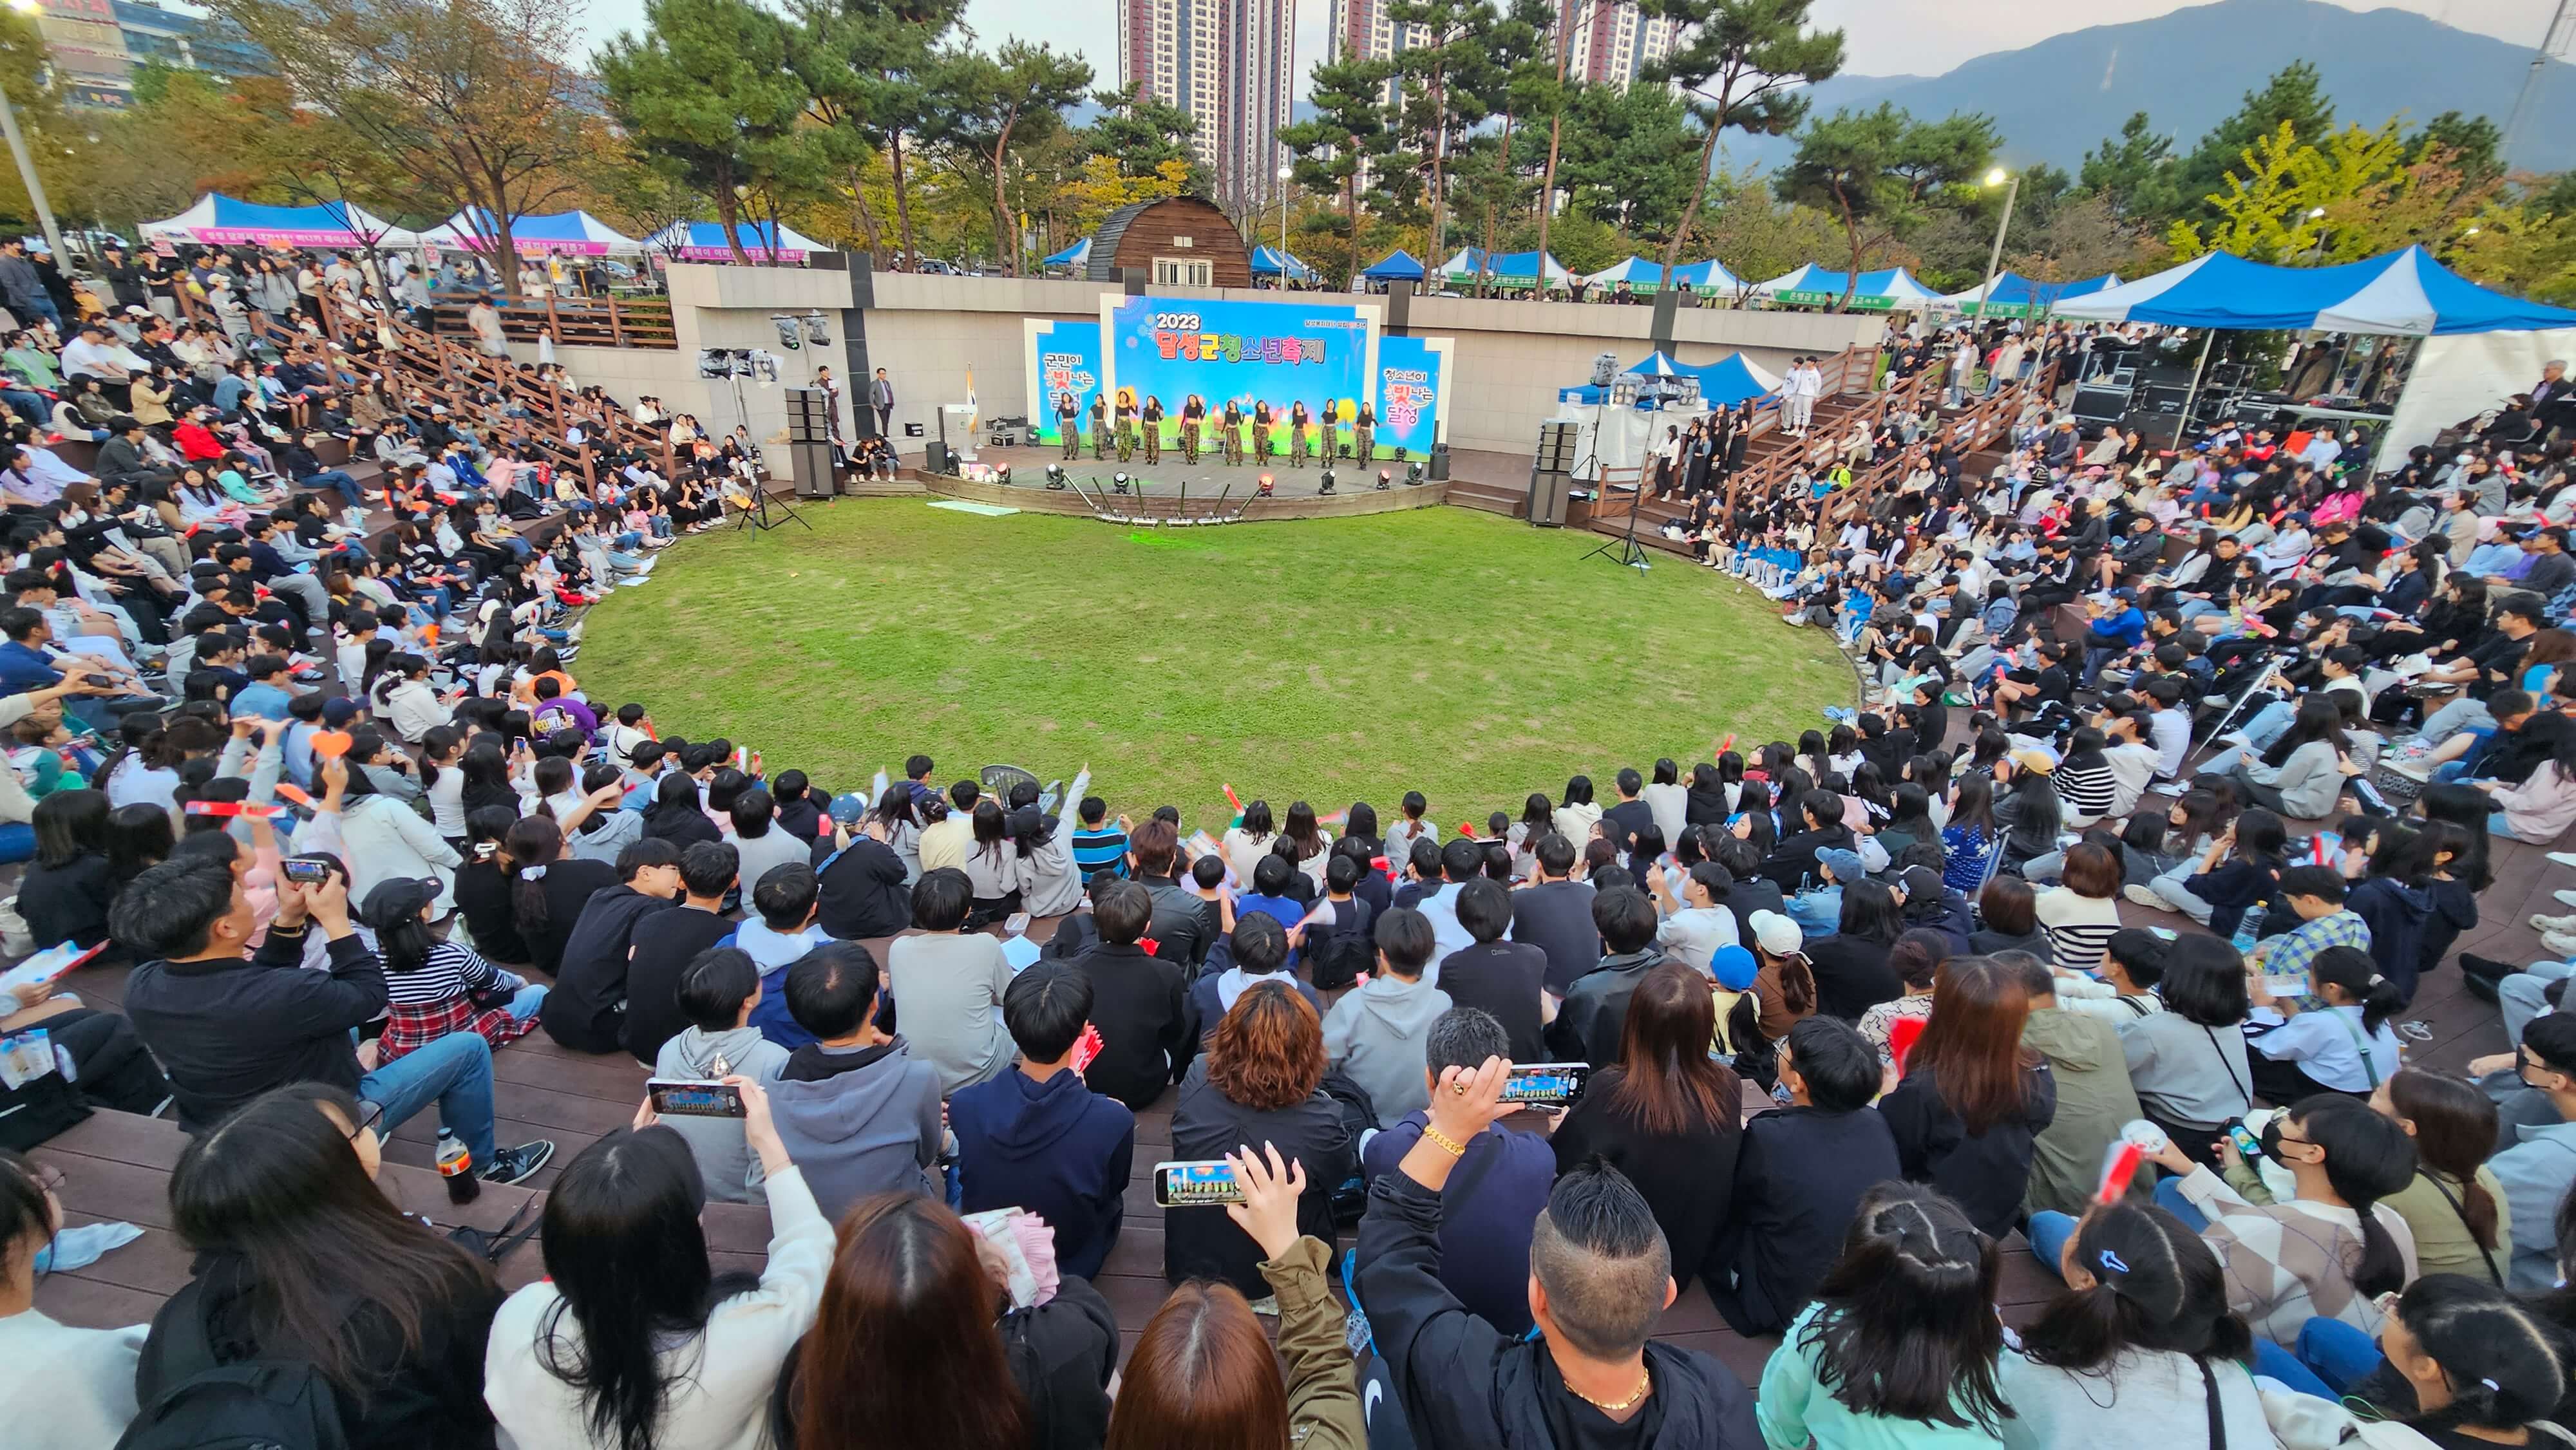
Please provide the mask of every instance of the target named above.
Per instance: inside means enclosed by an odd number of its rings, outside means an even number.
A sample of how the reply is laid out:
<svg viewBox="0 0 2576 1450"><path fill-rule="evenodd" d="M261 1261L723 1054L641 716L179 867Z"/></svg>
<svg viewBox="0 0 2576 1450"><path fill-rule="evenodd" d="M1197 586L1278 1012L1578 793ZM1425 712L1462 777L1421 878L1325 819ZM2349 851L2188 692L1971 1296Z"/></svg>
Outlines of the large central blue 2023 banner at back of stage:
<svg viewBox="0 0 2576 1450"><path fill-rule="evenodd" d="M1167 435L1190 397L1211 422L1229 402L1247 422L1255 404L1270 404L1280 451L1291 407L1303 402L1309 417L1342 425L1347 446L1368 381L1368 343L1370 319L1350 304L1133 296L1110 314L1113 402L1162 402Z"/></svg>

